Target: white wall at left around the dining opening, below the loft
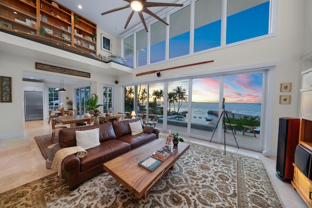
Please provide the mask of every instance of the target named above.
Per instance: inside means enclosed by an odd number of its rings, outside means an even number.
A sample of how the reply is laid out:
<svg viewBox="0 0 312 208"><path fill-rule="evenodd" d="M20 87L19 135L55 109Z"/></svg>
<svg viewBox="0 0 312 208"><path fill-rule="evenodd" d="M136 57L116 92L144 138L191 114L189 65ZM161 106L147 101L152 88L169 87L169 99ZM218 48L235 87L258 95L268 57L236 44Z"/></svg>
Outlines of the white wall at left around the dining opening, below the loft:
<svg viewBox="0 0 312 208"><path fill-rule="evenodd" d="M42 46L49 47L49 46ZM62 56L64 53L68 53L62 50L59 50L59 56ZM81 56L76 56L75 59L79 60ZM84 58L84 57L82 57ZM81 59L81 58L80 58ZM43 72L41 70L35 69L35 62L42 62L40 59L33 59L29 57L24 57L21 55L13 55L9 53L4 53L0 51L0 76L10 76L12 77L12 103L1 103L0 102L0 139L7 139L13 137L23 136L23 83L22 83L22 72L36 72L51 74L63 77L75 77L81 79L81 83L91 83L91 93L97 94L99 99L102 100L102 83L115 84L116 77L107 76L98 71L92 71L92 69L78 68L76 63L75 67L71 67L71 62L68 61L68 65L59 65L58 62L48 62L47 64L55 66L63 66L69 69L75 69L80 71L86 71L91 73L91 78L79 77L79 76L70 76L64 74L57 74L52 72ZM75 62L75 61L73 61ZM45 62L46 63L46 62ZM104 69L103 69L104 70ZM51 83L48 83L51 84ZM57 84L58 85L58 84ZM66 102L66 96L72 97L72 86L65 85L65 89L68 89L68 92L64 94L61 98L61 102Z"/></svg>

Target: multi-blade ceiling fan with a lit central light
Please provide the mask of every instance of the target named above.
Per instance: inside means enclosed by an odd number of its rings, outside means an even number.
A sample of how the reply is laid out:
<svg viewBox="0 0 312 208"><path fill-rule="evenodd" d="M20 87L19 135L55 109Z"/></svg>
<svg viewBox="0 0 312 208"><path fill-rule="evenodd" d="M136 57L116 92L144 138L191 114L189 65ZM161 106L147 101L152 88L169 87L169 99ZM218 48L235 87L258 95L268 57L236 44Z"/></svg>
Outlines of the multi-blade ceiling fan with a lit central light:
<svg viewBox="0 0 312 208"><path fill-rule="evenodd" d="M128 5L124 5L124 6L120 6L120 7L117 7L115 9L112 9L112 10L109 10L107 12L103 12L101 13L101 15L106 15L108 13L112 13L112 12L116 12L116 11L119 11L119 10L122 10L122 9L126 9L126 8L131 8L131 12L129 14L129 17L126 21L126 24L125 24L125 27L124 29L127 28L129 22L130 22L130 19L132 18L133 14L135 12L138 13L138 16L140 17L143 25L144 25L144 28L146 30L146 32L148 32L147 30L147 26L146 26L146 23L145 23L145 20L143 18L143 14L142 12L145 12L146 14L149 14L151 15L152 17L158 19L159 21L161 21L162 23L166 24L166 25L169 25L167 22L165 22L164 20L162 20L161 18L159 18L156 14L154 14L153 12L151 12L151 10L148 9L148 7L154 7L154 6L183 6L183 4L179 4L179 3L160 3L160 2L147 2L146 0L124 0L124 1L127 1L129 2Z"/></svg>

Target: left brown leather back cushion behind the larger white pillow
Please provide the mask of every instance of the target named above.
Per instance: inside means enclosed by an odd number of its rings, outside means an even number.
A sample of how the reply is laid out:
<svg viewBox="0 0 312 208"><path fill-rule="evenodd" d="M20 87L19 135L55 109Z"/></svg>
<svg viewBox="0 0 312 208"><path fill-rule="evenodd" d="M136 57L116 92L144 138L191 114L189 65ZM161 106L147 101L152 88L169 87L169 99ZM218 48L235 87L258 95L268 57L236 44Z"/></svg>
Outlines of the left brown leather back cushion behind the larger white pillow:
<svg viewBox="0 0 312 208"><path fill-rule="evenodd" d="M99 128L99 142L103 142L109 139L116 139L112 123L99 124L95 126L80 126L61 129L66 131L59 131L59 146L61 148L77 146L76 131L84 131L96 128Z"/></svg>

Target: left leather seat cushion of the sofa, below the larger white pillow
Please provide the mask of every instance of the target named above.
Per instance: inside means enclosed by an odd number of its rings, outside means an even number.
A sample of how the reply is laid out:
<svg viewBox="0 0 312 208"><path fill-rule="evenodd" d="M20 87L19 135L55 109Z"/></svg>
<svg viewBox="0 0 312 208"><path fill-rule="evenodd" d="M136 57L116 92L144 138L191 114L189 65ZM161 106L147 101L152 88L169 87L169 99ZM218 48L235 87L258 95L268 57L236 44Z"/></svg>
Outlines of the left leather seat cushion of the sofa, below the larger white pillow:
<svg viewBox="0 0 312 208"><path fill-rule="evenodd" d="M92 169L130 150L130 144L117 139L101 142L98 147L87 150L87 155L80 159L80 171Z"/></svg>

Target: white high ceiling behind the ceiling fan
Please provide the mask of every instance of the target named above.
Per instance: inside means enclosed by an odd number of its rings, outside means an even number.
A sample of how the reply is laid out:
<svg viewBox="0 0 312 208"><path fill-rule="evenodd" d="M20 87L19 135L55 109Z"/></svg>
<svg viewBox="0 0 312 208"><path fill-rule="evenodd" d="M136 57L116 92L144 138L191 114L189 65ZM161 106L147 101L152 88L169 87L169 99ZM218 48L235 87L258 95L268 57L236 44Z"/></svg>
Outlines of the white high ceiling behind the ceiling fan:
<svg viewBox="0 0 312 208"><path fill-rule="evenodd" d="M110 14L101 15L111 9L115 9L120 6L128 5L129 3L125 0L56 0L60 4L67 8L77 12L79 15L90 19L97 23L98 28L111 34L115 37L119 37L120 34L124 33L126 20L131 12L131 8L119 10ZM165 2L165 3L183 3L185 0L147 0L148 2ZM81 9L78 8L81 5ZM157 14L162 12L166 7L149 7L149 9ZM172 7L171 7L172 8ZM147 22L151 16L143 13L144 19ZM127 29L142 24L141 19L137 15L137 12L133 15Z"/></svg>

